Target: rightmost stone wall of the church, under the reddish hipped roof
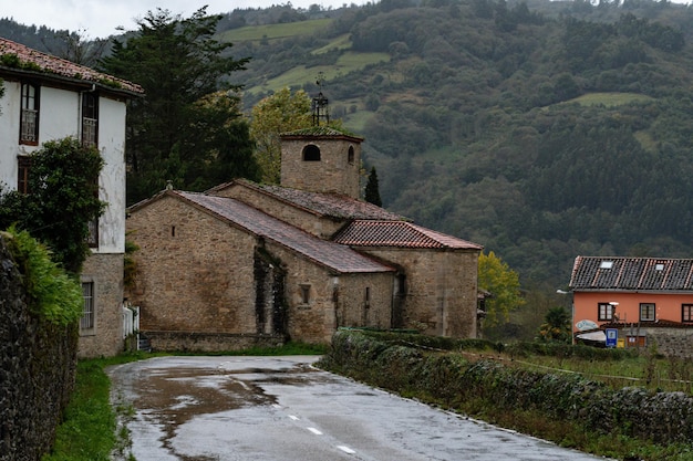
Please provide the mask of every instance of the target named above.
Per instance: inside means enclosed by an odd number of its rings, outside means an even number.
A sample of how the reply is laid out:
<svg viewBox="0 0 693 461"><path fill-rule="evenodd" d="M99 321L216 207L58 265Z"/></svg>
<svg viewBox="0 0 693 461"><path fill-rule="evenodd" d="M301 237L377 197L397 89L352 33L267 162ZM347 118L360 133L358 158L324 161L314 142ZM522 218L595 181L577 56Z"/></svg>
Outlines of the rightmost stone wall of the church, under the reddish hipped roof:
<svg viewBox="0 0 693 461"><path fill-rule="evenodd" d="M405 328L430 335L476 337L478 251L360 248L399 264L405 274Z"/></svg>

